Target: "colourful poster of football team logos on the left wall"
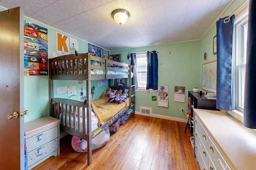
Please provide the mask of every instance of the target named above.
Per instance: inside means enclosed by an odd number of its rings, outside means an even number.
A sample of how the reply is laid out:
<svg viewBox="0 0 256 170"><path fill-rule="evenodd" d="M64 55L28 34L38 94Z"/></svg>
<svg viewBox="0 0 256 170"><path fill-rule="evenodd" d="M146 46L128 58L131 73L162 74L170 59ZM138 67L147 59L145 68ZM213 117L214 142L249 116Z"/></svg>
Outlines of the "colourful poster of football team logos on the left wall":
<svg viewBox="0 0 256 170"><path fill-rule="evenodd" d="M48 75L48 29L24 20L24 75Z"/></svg>

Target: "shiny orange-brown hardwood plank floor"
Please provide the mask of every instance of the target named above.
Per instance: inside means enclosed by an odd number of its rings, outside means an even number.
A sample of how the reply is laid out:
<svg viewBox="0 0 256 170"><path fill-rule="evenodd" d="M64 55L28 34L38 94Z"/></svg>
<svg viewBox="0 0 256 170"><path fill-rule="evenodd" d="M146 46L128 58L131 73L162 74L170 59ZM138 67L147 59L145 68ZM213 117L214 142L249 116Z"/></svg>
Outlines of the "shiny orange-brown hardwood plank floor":
<svg viewBox="0 0 256 170"><path fill-rule="evenodd" d="M71 147L71 136L60 139L60 155L52 156L33 170L200 170L193 157L186 123L142 115L130 115L110 141L87 153Z"/></svg>

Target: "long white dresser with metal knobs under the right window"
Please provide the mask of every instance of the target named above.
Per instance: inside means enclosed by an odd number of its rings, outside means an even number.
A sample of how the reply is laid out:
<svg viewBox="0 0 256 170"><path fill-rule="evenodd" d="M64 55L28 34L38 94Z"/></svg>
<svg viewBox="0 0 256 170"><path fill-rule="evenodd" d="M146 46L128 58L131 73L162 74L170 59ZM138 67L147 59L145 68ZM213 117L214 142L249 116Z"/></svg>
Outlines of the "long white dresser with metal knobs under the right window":
<svg viewBox="0 0 256 170"><path fill-rule="evenodd" d="M201 170L254 170L256 133L221 111L194 109L194 155Z"/></svg>

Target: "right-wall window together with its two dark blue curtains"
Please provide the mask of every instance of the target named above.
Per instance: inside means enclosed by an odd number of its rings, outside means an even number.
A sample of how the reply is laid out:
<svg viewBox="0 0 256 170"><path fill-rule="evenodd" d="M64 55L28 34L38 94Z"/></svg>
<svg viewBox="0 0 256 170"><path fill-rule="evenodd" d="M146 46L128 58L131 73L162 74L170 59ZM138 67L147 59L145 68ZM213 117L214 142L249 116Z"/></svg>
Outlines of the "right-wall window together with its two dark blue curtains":
<svg viewBox="0 0 256 170"><path fill-rule="evenodd" d="M248 5L249 4L249 5ZM249 6L249 14L248 14ZM256 0L250 0L236 14L217 21L217 104L218 109L256 129L254 86L256 84ZM231 21L231 22L230 22ZM234 27L235 26L235 27ZM235 30L233 30L235 28ZM233 34L235 33L235 36ZM233 39L233 43L231 41ZM233 51L232 51L233 47ZM233 59L232 59L233 58ZM239 113L239 111L241 111Z"/></svg>

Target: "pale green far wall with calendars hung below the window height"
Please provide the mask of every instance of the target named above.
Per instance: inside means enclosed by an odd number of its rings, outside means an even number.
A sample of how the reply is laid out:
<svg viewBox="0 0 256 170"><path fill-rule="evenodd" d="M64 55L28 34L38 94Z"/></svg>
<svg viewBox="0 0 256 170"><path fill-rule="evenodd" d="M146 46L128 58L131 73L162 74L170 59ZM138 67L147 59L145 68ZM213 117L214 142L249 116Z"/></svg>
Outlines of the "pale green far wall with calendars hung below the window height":
<svg viewBox="0 0 256 170"><path fill-rule="evenodd" d="M157 92L136 91L135 110L140 106L152 107L152 113L169 117L185 119L187 110L188 90L194 87L200 88L199 74L202 66L200 61L200 41L155 45L135 49L111 51L111 54L121 54L121 58L128 63L127 54L143 51L158 51L158 85L168 86L168 108L158 107L157 101L152 101L151 96L157 96ZM185 103L174 102L174 86L185 86ZM184 113L180 111L184 107Z"/></svg>

